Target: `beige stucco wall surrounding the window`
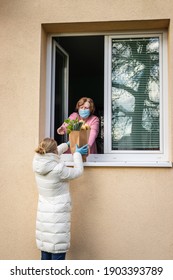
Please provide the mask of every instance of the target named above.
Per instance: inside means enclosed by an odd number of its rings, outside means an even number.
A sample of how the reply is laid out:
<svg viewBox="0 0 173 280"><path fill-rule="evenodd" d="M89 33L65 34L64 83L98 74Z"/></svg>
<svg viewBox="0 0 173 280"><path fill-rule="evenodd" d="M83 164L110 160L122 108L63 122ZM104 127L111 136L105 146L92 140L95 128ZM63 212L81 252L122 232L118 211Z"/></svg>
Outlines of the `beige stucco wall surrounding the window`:
<svg viewBox="0 0 173 280"><path fill-rule="evenodd" d="M1 259L39 259L32 158L44 135L47 32L57 32L58 28L65 31L66 27L69 31L70 26L72 31L78 30L79 25L67 24L73 22L80 22L80 26L83 22L96 22L90 30L99 29L100 22L110 22L106 30L115 31L127 26L160 28L168 27L169 19L168 109L172 144L171 1L0 1ZM149 22L140 24L141 20ZM71 192L69 259L173 258L172 168L86 167L84 175L71 183Z"/></svg>

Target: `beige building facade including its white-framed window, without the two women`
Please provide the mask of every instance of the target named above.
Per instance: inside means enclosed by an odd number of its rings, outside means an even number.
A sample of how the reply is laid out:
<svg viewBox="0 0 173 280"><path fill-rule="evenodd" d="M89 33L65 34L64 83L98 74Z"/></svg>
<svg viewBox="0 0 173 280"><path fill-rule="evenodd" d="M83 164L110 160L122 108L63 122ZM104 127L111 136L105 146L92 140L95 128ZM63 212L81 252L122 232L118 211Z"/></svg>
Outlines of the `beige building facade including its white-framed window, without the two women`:
<svg viewBox="0 0 173 280"><path fill-rule="evenodd" d="M173 258L172 20L169 0L1 1L1 259L40 258L34 149L83 95L102 125L68 259Z"/></svg>

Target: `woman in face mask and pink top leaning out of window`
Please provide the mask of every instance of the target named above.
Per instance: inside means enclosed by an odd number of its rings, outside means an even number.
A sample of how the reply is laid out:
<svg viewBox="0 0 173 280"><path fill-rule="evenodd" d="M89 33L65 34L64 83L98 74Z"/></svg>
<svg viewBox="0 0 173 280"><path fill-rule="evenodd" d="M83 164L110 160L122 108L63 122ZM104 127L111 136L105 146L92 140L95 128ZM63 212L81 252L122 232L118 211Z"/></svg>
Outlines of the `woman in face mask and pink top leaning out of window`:
<svg viewBox="0 0 173 280"><path fill-rule="evenodd" d="M84 121L91 128L90 136L88 140L89 152L91 154L97 154L96 138L99 133L99 118L94 115L95 105L91 98L82 97L76 104L74 113L72 113L69 118L75 120ZM66 133L67 124L63 123L58 129L57 133L63 135Z"/></svg>

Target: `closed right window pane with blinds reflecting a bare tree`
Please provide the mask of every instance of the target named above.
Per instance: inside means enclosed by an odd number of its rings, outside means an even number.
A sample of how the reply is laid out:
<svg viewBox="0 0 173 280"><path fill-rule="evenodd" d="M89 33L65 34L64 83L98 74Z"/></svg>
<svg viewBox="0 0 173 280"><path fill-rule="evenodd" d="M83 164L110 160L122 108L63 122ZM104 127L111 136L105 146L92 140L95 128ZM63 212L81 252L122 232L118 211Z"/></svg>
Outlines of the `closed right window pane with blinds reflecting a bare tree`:
<svg viewBox="0 0 173 280"><path fill-rule="evenodd" d="M159 37L112 39L112 150L159 150Z"/></svg>

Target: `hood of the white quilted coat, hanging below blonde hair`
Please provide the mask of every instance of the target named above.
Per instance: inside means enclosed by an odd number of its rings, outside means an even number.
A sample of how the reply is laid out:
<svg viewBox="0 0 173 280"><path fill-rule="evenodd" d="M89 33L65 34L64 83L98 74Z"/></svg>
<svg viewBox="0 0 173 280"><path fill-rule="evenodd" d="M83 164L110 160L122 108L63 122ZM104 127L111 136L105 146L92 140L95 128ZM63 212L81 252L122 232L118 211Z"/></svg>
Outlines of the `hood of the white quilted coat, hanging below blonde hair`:
<svg viewBox="0 0 173 280"><path fill-rule="evenodd" d="M59 156L53 153L36 154L33 159L33 171L40 175L46 175L55 168L59 161Z"/></svg>

